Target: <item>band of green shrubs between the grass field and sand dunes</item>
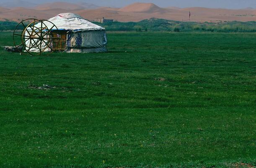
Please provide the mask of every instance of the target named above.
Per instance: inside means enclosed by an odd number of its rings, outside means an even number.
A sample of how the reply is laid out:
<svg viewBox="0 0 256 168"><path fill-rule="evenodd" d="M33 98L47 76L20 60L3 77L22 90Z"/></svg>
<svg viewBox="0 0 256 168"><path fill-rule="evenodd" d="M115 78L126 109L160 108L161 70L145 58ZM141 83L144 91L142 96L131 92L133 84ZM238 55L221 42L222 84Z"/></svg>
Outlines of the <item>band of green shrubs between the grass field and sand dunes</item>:
<svg viewBox="0 0 256 168"><path fill-rule="evenodd" d="M18 23L13 21L0 21L0 31L14 30ZM179 22L165 19L147 19L140 22L112 22L96 23L108 31L210 31L210 32L256 32L256 22L220 22L198 23ZM18 29L22 29L21 25Z"/></svg>

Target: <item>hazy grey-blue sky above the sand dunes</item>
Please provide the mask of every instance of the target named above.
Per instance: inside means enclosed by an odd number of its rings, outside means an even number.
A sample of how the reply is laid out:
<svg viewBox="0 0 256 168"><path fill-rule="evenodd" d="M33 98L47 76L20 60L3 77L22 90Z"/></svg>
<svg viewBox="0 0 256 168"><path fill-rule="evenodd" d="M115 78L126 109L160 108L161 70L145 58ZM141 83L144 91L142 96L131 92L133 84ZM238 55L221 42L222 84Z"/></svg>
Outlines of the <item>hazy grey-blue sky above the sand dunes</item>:
<svg viewBox="0 0 256 168"><path fill-rule="evenodd" d="M15 0L0 0L0 2L9 2ZM29 1L30 0L22 0ZM207 8L227 8L227 9L241 9L241 8L256 8L256 0L33 0L33 3L63 1L69 3L86 2L98 6L106 7L123 7L135 2L141 3L155 3L160 7L176 6L180 8L186 7L207 7Z"/></svg>

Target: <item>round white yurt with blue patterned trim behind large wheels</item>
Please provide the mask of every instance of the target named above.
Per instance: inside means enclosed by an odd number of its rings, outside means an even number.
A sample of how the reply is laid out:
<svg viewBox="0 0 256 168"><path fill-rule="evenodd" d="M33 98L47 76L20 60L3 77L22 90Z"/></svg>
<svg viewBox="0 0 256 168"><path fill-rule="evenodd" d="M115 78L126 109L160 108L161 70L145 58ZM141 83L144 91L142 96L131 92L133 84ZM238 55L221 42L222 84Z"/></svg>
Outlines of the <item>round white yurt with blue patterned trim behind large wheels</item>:
<svg viewBox="0 0 256 168"><path fill-rule="evenodd" d="M45 21L44 25L49 28L52 26L51 23L54 23L57 28L51 30L52 34L54 37L59 38L58 42L53 41L51 48L54 51L71 53L107 51L107 35L105 28L83 19L80 15L74 13L60 13L50 18L49 21L50 22ZM40 27L40 25L34 25L34 27ZM28 31L32 31L31 27L28 28ZM44 43L42 45L44 45ZM44 51L47 52L50 50L50 48L47 48ZM30 51L39 52L39 49L34 47L30 48Z"/></svg>

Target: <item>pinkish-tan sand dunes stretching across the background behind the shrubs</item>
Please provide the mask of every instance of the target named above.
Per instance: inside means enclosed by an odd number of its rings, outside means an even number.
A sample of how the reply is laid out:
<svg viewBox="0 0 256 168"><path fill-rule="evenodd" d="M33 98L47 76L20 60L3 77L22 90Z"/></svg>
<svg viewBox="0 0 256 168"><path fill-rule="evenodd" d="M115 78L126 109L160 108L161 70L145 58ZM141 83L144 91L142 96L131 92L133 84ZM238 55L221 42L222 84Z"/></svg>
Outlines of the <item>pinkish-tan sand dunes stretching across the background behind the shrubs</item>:
<svg viewBox="0 0 256 168"><path fill-rule="evenodd" d="M86 3L84 4L86 5ZM47 3L33 9L0 8L0 19L21 20L26 18L48 19L59 13L78 13L84 18L94 20L98 18L115 19L121 22L140 21L149 18L163 18L168 20L188 21L189 11L191 21L219 22L219 21L256 21L256 10L213 9L213 8L160 8L153 3L134 3L123 8L101 7L85 9L83 5L71 3Z"/></svg>

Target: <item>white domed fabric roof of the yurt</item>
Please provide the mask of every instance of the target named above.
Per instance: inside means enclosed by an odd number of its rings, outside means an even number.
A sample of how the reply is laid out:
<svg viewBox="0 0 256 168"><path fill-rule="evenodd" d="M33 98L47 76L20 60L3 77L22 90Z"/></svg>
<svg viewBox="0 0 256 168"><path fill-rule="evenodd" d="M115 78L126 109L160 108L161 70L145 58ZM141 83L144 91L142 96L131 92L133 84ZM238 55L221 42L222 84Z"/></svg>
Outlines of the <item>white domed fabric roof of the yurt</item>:
<svg viewBox="0 0 256 168"><path fill-rule="evenodd" d="M54 23L57 26L58 30L68 30L68 31L101 31L105 28L89 22L88 20L83 19L80 15L75 13L60 13L53 18L48 19L50 22ZM44 22L48 28L52 27L52 24L49 22ZM40 26L40 25L35 25Z"/></svg>

